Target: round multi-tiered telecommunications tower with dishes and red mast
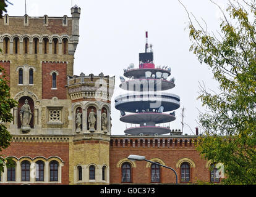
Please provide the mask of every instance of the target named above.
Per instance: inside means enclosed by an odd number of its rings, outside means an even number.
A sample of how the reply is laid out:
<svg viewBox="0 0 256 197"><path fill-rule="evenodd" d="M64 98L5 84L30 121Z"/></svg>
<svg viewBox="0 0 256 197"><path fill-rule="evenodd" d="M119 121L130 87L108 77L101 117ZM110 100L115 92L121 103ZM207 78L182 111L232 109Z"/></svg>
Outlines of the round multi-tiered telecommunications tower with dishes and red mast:
<svg viewBox="0 0 256 197"><path fill-rule="evenodd" d="M145 53L139 54L139 68L131 63L120 77L119 87L130 91L115 98L115 107L121 113L124 123L139 124L124 132L131 135L161 135L171 132L169 127L156 124L169 123L176 119L175 111L180 107L178 95L162 92L175 87L169 66L156 67L153 62L153 50L148 52L148 33L146 32ZM168 79L169 78L169 79ZM129 114L126 115L126 112ZM168 112L168 113L166 113Z"/></svg>

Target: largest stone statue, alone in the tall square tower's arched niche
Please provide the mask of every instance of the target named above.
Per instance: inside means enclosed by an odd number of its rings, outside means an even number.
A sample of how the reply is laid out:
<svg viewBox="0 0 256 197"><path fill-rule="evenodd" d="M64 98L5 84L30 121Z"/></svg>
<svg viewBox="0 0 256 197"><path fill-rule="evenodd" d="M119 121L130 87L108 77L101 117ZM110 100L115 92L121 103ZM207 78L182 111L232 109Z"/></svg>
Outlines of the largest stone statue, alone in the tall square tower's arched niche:
<svg viewBox="0 0 256 197"><path fill-rule="evenodd" d="M22 105L20 109L20 122L22 126L20 127L21 131L28 132L30 131L30 121L32 118L32 112L30 110L30 106L28 105L28 100L25 100L25 104Z"/></svg>

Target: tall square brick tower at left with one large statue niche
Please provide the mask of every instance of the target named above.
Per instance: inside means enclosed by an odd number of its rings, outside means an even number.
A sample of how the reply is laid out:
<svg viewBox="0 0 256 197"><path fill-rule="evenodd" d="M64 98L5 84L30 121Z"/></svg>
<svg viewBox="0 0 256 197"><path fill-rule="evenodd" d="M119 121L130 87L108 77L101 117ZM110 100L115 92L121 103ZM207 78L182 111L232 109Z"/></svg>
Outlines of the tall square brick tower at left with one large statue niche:
<svg viewBox="0 0 256 197"><path fill-rule="evenodd" d="M15 168L11 178L5 169L2 183L69 184L75 131L66 85L67 76L73 75L80 8L72 7L71 14L6 14L0 19L0 66L9 79L11 97L19 103L12 110L14 121L7 125L11 146L1 152L13 158ZM23 167L28 167L25 174ZM36 175L29 173L32 170Z"/></svg>

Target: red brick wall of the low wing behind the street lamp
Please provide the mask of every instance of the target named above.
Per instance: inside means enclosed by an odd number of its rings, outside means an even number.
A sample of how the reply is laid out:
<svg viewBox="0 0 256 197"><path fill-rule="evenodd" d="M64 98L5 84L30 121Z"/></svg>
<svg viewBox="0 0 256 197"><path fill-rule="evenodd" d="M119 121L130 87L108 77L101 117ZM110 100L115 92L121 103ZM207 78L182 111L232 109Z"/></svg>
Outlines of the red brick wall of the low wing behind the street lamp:
<svg viewBox="0 0 256 197"><path fill-rule="evenodd" d="M164 144L160 146L157 143L150 145L145 145L145 139L147 137L141 137L140 139L144 140L142 146L135 146L135 140L139 138L134 138L132 141L127 139L127 144L120 144L120 140L126 141L126 137L122 139L111 138L113 144L110 146L110 155L109 155L109 164L110 164L110 182L111 183L122 183L121 180L121 166L117 166L119 161L127 158L129 155L143 155L146 159L151 160L153 158L161 159L164 162L165 166L172 167L177 172L178 182L181 183L181 168L176 167L177 163L182 158L190 159L194 162L195 167L190 166L190 182L197 182L197 180L210 181L210 171L205 165L207 161L202 159L197 150L195 150L194 145L192 147L184 145L165 146ZM115 140L118 140L116 145ZM170 139L168 139L170 140ZM153 140L155 143L155 140ZM163 140L164 142L164 140ZM189 160L189 161L190 161ZM185 159L186 161L186 159ZM132 183L151 183L151 168L147 167L148 163L146 161L135 161L136 167L132 167ZM161 167L161 183L175 183L174 172L170 169Z"/></svg>

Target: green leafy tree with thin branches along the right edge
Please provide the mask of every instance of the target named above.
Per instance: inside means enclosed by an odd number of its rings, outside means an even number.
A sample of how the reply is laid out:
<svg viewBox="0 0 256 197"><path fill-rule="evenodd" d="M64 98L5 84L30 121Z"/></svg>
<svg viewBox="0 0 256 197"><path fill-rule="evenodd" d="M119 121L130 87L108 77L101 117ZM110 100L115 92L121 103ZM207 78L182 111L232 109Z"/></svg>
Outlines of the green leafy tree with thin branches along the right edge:
<svg viewBox="0 0 256 197"><path fill-rule="evenodd" d="M197 150L204 158L224 164L222 183L255 184L255 0L229 1L228 14L221 11L224 18L218 36L208 33L195 19L197 30L188 14L190 50L200 63L210 66L219 83L218 92L200 84L198 99L209 111L199 115L205 133L199 138Z"/></svg>

